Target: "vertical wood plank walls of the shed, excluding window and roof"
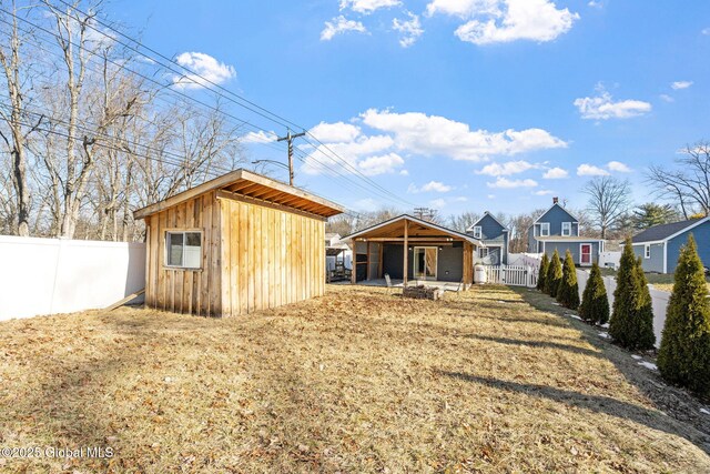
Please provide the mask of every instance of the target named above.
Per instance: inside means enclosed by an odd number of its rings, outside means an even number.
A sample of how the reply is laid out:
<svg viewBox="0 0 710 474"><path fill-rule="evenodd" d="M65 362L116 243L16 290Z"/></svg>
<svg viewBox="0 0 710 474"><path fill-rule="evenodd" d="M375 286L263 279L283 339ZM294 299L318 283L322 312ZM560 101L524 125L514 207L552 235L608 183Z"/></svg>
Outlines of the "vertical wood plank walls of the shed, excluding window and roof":
<svg viewBox="0 0 710 474"><path fill-rule="evenodd" d="M145 218L149 306L226 316L323 295L325 223L211 191ZM202 268L165 266L165 232L202 232Z"/></svg>

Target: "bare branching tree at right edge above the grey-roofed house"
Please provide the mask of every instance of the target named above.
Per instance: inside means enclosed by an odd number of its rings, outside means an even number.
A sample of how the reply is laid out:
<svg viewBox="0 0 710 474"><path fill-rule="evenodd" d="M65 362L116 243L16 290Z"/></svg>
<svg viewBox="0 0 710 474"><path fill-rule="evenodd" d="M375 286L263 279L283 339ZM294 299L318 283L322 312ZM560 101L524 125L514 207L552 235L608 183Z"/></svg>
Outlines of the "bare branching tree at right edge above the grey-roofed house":
<svg viewBox="0 0 710 474"><path fill-rule="evenodd" d="M677 203L688 219L693 211L710 213L710 142L688 145L680 158L673 160L677 169L652 165L647 181L659 198Z"/></svg>

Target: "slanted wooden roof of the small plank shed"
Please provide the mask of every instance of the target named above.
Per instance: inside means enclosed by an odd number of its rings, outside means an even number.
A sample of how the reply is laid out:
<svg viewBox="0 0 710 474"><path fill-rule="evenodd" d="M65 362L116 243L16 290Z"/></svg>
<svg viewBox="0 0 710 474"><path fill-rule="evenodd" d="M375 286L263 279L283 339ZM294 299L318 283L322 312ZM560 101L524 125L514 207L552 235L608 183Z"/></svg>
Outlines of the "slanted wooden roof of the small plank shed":
<svg viewBox="0 0 710 474"><path fill-rule="evenodd" d="M133 212L133 215L135 219L144 219L151 214L173 208L190 199L215 190L225 192L227 195L246 196L255 202L263 201L278 204L323 218L329 218L345 212L345 208L332 201L272 180L262 174L240 169L206 181L197 186L190 188L163 201L139 209Z"/></svg>

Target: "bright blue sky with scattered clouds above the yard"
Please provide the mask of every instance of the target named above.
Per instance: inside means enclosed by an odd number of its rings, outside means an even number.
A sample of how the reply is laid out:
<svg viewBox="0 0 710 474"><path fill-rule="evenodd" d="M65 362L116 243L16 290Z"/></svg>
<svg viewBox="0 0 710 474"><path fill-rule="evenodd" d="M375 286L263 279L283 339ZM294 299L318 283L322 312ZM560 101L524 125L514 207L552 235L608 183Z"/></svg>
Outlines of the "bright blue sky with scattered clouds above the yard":
<svg viewBox="0 0 710 474"><path fill-rule="evenodd" d="M144 0L108 13L444 214L552 195L582 208L600 173L645 202L648 164L710 140L708 1ZM233 112L265 130L245 137L251 159L285 160L258 142L283 127ZM327 175L321 151L302 142L297 185L356 210L407 208Z"/></svg>

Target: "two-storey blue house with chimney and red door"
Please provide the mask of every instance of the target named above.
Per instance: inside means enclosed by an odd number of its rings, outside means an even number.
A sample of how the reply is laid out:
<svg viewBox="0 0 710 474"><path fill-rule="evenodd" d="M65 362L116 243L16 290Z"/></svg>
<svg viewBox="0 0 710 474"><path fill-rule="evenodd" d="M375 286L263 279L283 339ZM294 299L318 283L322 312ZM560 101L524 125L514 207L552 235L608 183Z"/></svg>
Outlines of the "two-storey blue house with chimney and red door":
<svg viewBox="0 0 710 474"><path fill-rule="evenodd" d="M598 263L604 245L604 239L579 235L579 220L562 208L557 198L552 198L552 206L528 229L528 252L551 256L557 249L564 258L569 250L575 264L580 266Z"/></svg>

